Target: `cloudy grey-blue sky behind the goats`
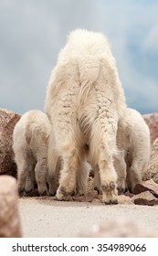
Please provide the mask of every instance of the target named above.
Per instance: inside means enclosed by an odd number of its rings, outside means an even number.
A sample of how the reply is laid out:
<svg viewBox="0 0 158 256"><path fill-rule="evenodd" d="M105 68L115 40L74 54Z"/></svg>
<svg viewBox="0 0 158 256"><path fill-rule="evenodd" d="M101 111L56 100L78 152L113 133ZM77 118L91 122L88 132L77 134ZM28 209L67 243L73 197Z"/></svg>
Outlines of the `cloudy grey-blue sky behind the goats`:
<svg viewBox="0 0 158 256"><path fill-rule="evenodd" d="M0 108L44 110L58 52L76 28L108 37L128 106L158 112L156 0L1 0Z"/></svg>

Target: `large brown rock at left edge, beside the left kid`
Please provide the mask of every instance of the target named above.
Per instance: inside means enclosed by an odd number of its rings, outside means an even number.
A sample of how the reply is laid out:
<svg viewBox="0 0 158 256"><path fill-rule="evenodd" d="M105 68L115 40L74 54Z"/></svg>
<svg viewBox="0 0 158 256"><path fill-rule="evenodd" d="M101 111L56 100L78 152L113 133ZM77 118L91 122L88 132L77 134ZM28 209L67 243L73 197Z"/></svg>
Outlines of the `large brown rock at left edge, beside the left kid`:
<svg viewBox="0 0 158 256"><path fill-rule="evenodd" d="M0 175L16 177L16 164L12 150L12 133L20 115L0 109Z"/></svg>

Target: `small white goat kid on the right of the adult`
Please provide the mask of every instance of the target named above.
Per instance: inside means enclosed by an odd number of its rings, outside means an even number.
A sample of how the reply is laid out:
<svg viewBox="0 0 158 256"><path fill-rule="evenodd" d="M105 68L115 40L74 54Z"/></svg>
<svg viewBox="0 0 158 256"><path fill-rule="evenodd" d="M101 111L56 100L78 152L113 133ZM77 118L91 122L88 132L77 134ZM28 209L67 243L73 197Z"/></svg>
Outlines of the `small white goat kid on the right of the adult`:
<svg viewBox="0 0 158 256"><path fill-rule="evenodd" d="M126 109L124 117L119 121L117 133L119 155L115 159L118 172L118 189L125 187L132 191L142 181L142 171L150 159L150 131L142 115Z"/></svg>

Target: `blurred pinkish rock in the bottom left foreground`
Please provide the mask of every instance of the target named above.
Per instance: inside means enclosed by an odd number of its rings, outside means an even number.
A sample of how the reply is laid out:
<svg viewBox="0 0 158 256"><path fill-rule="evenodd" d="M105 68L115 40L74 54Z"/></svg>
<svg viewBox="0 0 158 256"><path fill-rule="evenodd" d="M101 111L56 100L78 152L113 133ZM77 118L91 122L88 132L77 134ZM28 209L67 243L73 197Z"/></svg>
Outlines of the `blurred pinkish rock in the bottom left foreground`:
<svg viewBox="0 0 158 256"><path fill-rule="evenodd" d="M0 238L22 237L16 178L0 176Z"/></svg>

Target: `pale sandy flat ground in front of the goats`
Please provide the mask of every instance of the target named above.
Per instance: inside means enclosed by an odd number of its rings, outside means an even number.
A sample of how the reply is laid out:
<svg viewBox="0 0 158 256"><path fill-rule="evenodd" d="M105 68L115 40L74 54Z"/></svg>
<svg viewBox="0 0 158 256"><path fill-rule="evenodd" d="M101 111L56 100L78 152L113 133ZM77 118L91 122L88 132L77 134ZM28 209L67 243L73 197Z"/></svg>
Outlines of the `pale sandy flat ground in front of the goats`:
<svg viewBox="0 0 158 256"><path fill-rule="evenodd" d="M73 238L95 225L130 219L149 232L158 230L158 206L63 202L52 197L21 197L19 211L24 237Z"/></svg>

